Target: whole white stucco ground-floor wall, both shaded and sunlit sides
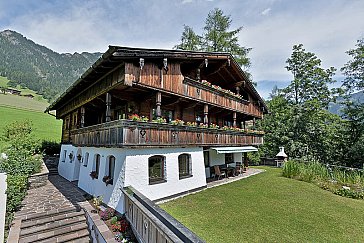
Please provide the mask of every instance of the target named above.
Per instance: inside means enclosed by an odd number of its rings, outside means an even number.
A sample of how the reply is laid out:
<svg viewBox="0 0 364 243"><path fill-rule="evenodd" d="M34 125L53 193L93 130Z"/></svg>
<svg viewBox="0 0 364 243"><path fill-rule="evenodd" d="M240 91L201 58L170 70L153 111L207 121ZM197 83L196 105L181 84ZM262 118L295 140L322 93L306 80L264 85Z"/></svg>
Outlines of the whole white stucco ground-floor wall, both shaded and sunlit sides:
<svg viewBox="0 0 364 243"><path fill-rule="evenodd" d="M69 159L71 152L74 154L73 161ZM82 155L81 163L76 158L78 153ZM86 153L88 153L87 166ZM178 156L182 153L191 155L192 177L179 179ZM94 170L96 154L100 154L100 172L97 179L92 179L90 172ZM107 174L110 155L115 157L114 181L113 185L106 186L102 178ZM148 158L154 155L165 156L167 180L149 185ZM120 188L125 186L134 187L151 200L206 186L202 148L122 149L76 148L71 145L62 145L58 168L61 176L70 181L78 180L78 186L82 190L94 196L102 196L104 203L121 213L124 212L124 200Z"/></svg>

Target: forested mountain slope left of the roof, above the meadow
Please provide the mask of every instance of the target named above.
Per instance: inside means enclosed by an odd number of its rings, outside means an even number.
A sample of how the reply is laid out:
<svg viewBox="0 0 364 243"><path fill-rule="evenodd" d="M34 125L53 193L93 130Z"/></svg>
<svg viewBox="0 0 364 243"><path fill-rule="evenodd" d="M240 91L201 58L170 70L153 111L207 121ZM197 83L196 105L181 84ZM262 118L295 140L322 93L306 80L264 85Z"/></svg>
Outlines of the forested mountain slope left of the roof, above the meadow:
<svg viewBox="0 0 364 243"><path fill-rule="evenodd" d="M72 84L101 53L59 54L21 34L0 32L0 76L53 100Z"/></svg>

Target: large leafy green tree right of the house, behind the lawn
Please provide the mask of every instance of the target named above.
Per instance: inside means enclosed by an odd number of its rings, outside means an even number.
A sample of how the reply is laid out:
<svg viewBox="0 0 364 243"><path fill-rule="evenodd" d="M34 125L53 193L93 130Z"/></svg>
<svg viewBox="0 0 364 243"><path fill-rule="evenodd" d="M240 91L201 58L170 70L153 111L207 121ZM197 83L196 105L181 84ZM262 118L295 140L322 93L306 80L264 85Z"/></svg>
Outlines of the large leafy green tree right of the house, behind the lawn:
<svg viewBox="0 0 364 243"><path fill-rule="evenodd" d="M278 146L285 146L291 158L339 161L344 123L326 109L333 99L328 84L334 82L335 69L323 69L321 60L302 44L293 46L287 64L293 80L288 87L272 91L270 114L263 121L265 153L275 156Z"/></svg>

